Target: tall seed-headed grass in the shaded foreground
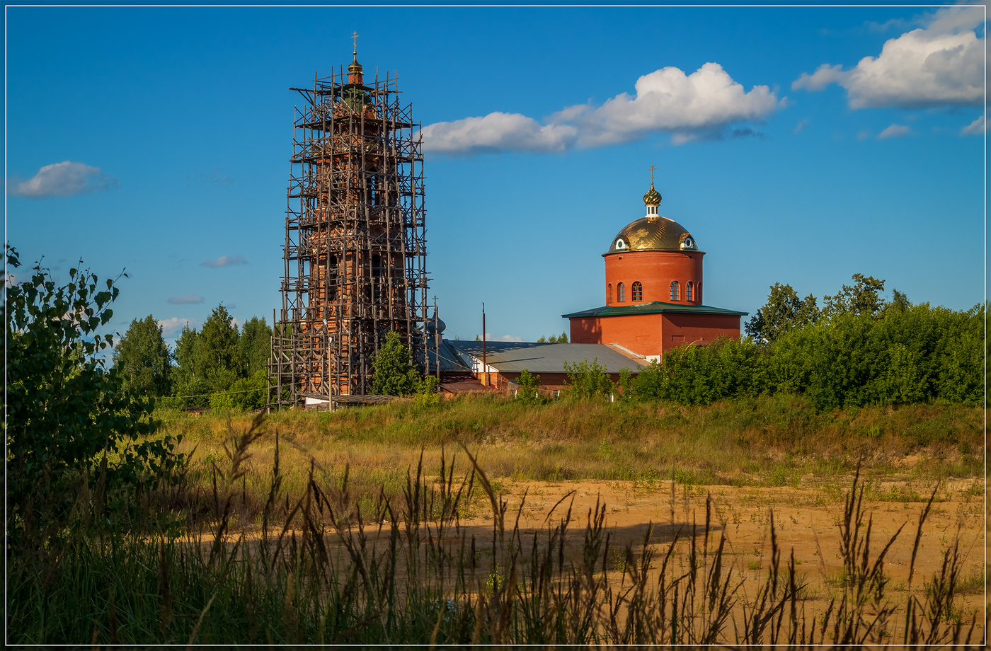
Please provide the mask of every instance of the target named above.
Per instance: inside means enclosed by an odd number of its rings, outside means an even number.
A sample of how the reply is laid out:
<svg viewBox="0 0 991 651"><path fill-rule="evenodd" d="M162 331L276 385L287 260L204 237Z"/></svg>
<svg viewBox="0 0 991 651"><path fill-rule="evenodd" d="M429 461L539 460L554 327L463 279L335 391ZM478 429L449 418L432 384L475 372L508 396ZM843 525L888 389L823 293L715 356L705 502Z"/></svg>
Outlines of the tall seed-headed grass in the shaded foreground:
<svg viewBox="0 0 991 651"><path fill-rule="evenodd" d="M280 428L275 431L280 431ZM234 526L262 424L236 433L215 462L215 523L165 532L80 535L54 570L9 574L10 640L29 644L813 644L976 643L955 613L958 545L896 600L884 560L895 538L872 539L859 469L843 499L843 579L816 615L770 514L771 557L746 595L707 500L700 523L666 544L650 532L616 549L606 504L574 512L568 496L524 529L483 465L464 450L423 460L400 495L362 499L350 472L334 481L311 461L304 486L284 480L275 443L257 534ZM275 438L275 437L274 437ZM920 513L913 553L934 496ZM488 505L485 527L463 522ZM156 518L148 518L155 521ZM159 519L161 521L161 518ZM202 521L202 520L200 520ZM584 526L583 526L584 523ZM16 565L19 559L11 559ZM33 574L32 571L35 571ZM43 576L44 575L44 576ZM910 578L910 584L912 579Z"/></svg>

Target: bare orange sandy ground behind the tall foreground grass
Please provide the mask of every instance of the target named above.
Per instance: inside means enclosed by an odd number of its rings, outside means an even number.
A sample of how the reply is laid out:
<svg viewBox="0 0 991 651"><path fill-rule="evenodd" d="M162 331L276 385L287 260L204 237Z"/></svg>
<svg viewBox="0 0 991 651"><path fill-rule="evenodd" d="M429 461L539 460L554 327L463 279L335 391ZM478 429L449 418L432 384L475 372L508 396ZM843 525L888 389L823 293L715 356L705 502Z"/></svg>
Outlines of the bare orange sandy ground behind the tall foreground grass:
<svg viewBox="0 0 991 651"><path fill-rule="evenodd" d="M973 577L985 568L985 505L984 495L969 494L972 481L944 484L923 527L923 535L916 559L912 592L922 596L924 584L940 569L944 552L959 535L963 555L962 577ZM597 500L606 503L606 528L611 534L610 545L633 544L634 552L640 549L647 528L652 524L650 542L666 549L677 534L681 540L691 535L693 520L698 524L700 536L706 519L707 495L712 498L713 535L725 534L727 551L734 563L733 572L743 582L743 595L752 596L758 583L766 576L771 557L771 517L778 544L782 548L782 561L794 549L796 570L808 583L806 596L813 612L825 609L830 597L836 594L836 577L841 573L839 556L840 528L843 513L843 488L733 488L733 487L684 487L676 485L672 492L670 482L658 482L644 486L631 482L503 482L500 492L509 504L506 529L511 529L522 502L520 527L527 530L546 530L548 524L556 525L572 506L571 532L573 548L580 545L590 509ZM905 494L910 488L897 482L875 487L874 496L885 495L891 488L896 494ZM932 487L916 487L925 493L922 501L889 501L890 496L864 501L865 520L872 518L871 550L873 559L893 535L898 534L886 556L884 573L890 577L888 596L896 603L904 603L908 593L909 568L913 544L918 529L919 515L925 508L925 499ZM548 512L562 497L572 492L557 506L550 519ZM901 492L898 492L901 491ZM525 499L524 499L525 493ZM910 493L911 494L911 493ZM572 501L573 497L573 501ZM913 495L914 497L914 495ZM485 511L462 523L480 530L492 530L492 516ZM484 534L483 534L484 535ZM530 534L532 537L532 533ZM715 546L715 545L713 545ZM684 546L680 548L684 553ZM974 586L974 583L977 583ZM971 589L955 600L963 621L969 624L976 614L975 635L983 636L985 622L985 591L979 580L971 580Z"/></svg>

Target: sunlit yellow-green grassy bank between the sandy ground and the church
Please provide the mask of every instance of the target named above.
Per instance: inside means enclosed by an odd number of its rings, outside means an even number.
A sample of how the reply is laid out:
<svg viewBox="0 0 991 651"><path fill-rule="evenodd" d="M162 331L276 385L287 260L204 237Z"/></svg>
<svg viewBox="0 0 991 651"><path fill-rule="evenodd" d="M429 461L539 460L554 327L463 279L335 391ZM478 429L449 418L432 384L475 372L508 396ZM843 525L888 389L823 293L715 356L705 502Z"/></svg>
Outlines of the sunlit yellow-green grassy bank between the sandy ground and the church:
<svg viewBox="0 0 991 651"><path fill-rule="evenodd" d="M200 418L157 414L179 450L195 453L189 480L212 490L213 466L227 464L224 442L252 416L212 412ZM819 486L846 484L861 460L869 479L934 481L983 473L983 411L915 404L817 413L798 397L731 400L705 407L662 403L559 400L521 405L500 396L466 396L422 406L412 401L336 413L271 414L242 479L247 512L258 513L280 442L283 483L302 492L310 460L323 479L340 482L350 467L355 494L395 497L406 472L434 467L441 450L464 443L494 481L675 479L689 486ZM925 487L925 488L924 488ZM838 493L837 493L838 494Z"/></svg>

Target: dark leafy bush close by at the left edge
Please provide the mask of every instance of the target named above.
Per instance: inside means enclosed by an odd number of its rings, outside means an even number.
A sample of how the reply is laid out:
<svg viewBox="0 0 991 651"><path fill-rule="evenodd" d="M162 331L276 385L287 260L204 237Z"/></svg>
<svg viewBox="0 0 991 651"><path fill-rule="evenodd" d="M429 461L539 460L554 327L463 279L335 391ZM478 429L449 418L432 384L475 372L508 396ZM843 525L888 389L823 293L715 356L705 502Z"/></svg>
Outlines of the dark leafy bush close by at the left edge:
<svg viewBox="0 0 991 651"><path fill-rule="evenodd" d="M20 265L10 247L7 262ZM171 439L150 438L152 400L104 368L113 338L97 330L113 316L114 280L71 269L59 286L38 264L26 281L4 280L4 290L8 542L44 555L69 534L73 513L102 514L100 523L126 515L135 491L180 459Z"/></svg>

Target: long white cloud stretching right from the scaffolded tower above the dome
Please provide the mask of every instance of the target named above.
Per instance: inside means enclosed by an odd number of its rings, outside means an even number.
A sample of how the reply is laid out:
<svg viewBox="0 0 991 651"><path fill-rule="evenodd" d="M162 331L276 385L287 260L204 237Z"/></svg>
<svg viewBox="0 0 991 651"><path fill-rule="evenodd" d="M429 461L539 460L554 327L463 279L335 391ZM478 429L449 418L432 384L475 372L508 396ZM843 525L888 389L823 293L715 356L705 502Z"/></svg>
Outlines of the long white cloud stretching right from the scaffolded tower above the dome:
<svg viewBox="0 0 991 651"><path fill-rule="evenodd" d="M620 93L601 106L578 104L541 124L518 113L438 122L423 128L424 149L449 155L484 152L562 152L672 134L678 144L720 138L725 127L760 121L784 105L767 86L747 92L718 63L686 75L665 67L636 80L635 93ZM747 132L742 135L754 135Z"/></svg>

